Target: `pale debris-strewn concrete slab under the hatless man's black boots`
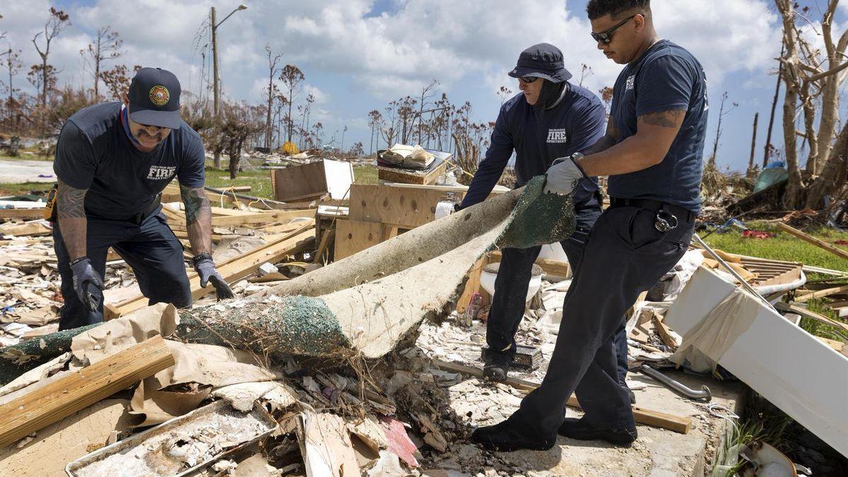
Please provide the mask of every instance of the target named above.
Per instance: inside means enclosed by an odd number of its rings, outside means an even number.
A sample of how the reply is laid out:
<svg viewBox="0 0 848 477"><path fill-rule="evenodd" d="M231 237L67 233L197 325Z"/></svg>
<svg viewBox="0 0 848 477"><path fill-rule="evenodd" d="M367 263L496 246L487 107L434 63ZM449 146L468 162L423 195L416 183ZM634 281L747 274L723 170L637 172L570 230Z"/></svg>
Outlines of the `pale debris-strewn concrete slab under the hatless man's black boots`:
<svg viewBox="0 0 848 477"><path fill-rule="evenodd" d="M444 327L444 324L443 324ZM458 339L453 328L449 333L440 329L436 336L438 343L433 349L432 331L425 330L418 340L428 354L439 359L449 355L458 358L470 356L471 347L479 340L474 336L474 328L461 330L465 340ZM428 342L429 341L429 342ZM462 342L462 345L459 345ZM427 347L431 347L428 351ZM466 350L466 348L468 348ZM439 350L441 349L441 350ZM438 351L447 351L439 353ZM461 350L461 351L460 351ZM442 355L442 356L438 356ZM447 355L447 356L446 356ZM458 356L459 355L459 356ZM476 356L479 356L477 345ZM548 358L546 355L545 358ZM482 366L480 362L465 360L470 366ZM690 376L682 372L666 372L691 388L700 389L701 384L709 386L713 399L711 403L727 407L730 411L741 412L741 399L747 389L739 382L728 383L715 379ZM510 373L522 379L539 381L533 374ZM689 434L678 434L666 429L657 429L639 425L639 440L628 449L612 447L600 441L574 441L560 437L557 446L547 452L483 452L477 446L456 443L449 453L442 454L429 467L431 469L455 469L468 474L510 475L650 475L678 476L703 475L711 468L711 459L716 447L722 441L728 429L728 421L710 414L706 404L691 401L678 396L654 379L641 373L630 373L637 404L661 412L670 412L693 419ZM449 385L449 384L448 384ZM467 416L474 426L495 424L515 412L522 399L522 392L505 384L483 384L478 379L464 377L458 384L449 385L451 409L458 416ZM581 413L569 408L568 415L577 417Z"/></svg>

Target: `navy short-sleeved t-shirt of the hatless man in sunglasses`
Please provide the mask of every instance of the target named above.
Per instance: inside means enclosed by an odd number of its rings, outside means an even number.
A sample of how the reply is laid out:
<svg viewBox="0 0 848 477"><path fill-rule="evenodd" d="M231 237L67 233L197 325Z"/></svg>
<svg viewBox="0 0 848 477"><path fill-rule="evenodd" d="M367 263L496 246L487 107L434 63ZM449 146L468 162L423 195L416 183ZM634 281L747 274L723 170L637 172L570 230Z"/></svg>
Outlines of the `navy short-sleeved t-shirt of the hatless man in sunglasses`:
<svg viewBox="0 0 848 477"><path fill-rule="evenodd" d="M654 199L700 212L701 158L706 133L706 76L692 53L667 40L656 42L627 65L613 89L611 119L616 142L636 133L636 119L684 110L683 125L660 164L611 176L607 192L619 199Z"/></svg>

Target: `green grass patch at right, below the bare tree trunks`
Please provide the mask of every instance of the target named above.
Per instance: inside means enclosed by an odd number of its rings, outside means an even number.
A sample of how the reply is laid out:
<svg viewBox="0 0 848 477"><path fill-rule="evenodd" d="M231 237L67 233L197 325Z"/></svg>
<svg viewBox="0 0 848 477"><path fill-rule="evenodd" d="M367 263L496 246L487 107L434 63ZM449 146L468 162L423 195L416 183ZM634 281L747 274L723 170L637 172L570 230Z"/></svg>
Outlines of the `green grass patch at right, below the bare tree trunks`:
<svg viewBox="0 0 848 477"><path fill-rule="evenodd" d="M712 233L705 241L712 248L724 250L728 253L757 256L773 260L800 261L804 265L812 267L823 267L848 272L848 261L845 261L845 259L827 250L820 249L813 244L808 244L801 239L797 239L789 235L789 233L779 232L772 224L747 222L745 225L756 230L776 232L778 235L773 239L745 239L742 237L742 233L732 230L728 233ZM805 230L804 232L831 244L839 239L848 240L848 233L837 232L832 228L819 228L816 230ZM700 233L700 235L703 236L706 233Z"/></svg>

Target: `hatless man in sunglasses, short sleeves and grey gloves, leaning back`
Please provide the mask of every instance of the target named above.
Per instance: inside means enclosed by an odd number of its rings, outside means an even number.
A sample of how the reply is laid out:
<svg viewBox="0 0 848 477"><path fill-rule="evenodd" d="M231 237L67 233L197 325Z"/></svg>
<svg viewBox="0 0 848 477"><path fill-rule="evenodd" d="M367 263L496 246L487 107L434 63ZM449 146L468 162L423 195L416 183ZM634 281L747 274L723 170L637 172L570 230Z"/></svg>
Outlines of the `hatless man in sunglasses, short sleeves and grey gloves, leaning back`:
<svg viewBox="0 0 848 477"><path fill-rule="evenodd" d="M626 65L604 137L555 161L546 189L572 194L609 176L611 207L595 222L568 290L548 373L506 421L475 430L489 449L549 449L556 435L630 446L637 438L616 380L613 337L622 312L683 256L700 211L706 77L691 53L657 36L650 0L589 0L593 38ZM566 418L575 394L585 414Z"/></svg>

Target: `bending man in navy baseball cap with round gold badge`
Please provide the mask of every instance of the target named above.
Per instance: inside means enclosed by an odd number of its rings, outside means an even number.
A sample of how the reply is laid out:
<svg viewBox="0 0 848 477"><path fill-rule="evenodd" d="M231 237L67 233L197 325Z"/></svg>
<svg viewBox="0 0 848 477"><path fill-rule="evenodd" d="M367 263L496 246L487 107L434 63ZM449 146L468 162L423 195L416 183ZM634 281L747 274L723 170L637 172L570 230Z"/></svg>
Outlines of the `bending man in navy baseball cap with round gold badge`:
<svg viewBox="0 0 848 477"><path fill-rule="evenodd" d="M64 299L59 329L103 321L109 247L132 267L150 304L192 305L182 244L159 203L175 177L201 286L211 282L219 299L232 297L212 262L204 165L204 145L180 117L180 81L170 71L142 68L123 104L96 104L70 116L53 161L59 178L53 240Z"/></svg>

